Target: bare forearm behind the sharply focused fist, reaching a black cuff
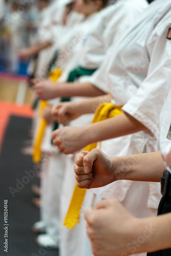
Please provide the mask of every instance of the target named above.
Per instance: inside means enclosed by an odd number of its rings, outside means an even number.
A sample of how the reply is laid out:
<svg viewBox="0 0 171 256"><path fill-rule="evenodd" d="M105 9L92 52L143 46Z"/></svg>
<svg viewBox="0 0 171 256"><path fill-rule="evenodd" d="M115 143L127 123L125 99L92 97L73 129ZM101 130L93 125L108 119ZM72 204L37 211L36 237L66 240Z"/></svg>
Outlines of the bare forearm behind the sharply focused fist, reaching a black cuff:
<svg viewBox="0 0 171 256"><path fill-rule="evenodd" d="M165 170L160 151L113 157L112 160L117 180L160 182Z"/></svg>

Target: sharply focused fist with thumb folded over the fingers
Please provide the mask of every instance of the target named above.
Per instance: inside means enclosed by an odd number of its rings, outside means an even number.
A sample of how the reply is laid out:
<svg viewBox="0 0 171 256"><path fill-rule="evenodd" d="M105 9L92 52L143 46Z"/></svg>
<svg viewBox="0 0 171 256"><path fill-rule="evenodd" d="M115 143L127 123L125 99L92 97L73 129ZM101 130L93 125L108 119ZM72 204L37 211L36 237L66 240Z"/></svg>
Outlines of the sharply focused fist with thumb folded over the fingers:
<svg viewBox="0 0 171 256"><path fill-rule="evenodd" d="M98 148L75 156L75 179L80 188L102 187L116 180L112 159Z"/></svg>

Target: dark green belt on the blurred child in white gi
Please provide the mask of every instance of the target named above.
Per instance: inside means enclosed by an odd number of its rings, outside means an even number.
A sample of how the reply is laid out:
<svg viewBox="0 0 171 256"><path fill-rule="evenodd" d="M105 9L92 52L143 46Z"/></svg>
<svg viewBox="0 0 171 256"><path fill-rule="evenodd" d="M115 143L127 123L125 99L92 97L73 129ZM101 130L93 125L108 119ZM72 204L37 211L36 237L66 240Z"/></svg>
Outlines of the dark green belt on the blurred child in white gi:
<svg viewBox="0 0 171 256"><path fill-rule="evenodd" d="M75 78L80 76L86 76L86 75L91 76L96 70L97 69L84 69L84 68L78 67L70 72L67 82L74 82ZM70 101L70 98L61 98L60 100L60 102L66 102L66 101ZM58 129L58 125L59 124L57 122L54 122L53 131Z"/></svg>

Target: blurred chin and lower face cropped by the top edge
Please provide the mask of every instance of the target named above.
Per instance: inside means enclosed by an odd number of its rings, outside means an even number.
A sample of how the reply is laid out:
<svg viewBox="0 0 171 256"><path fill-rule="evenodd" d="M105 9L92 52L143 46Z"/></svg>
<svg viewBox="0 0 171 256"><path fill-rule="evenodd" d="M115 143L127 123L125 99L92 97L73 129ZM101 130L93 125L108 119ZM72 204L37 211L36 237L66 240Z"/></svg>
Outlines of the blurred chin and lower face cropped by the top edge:
<svg viewBox="0 0 171 256"><path fill-rule="evenodd" d="M88 16L100 10L99 1L88 0L85 3L84 0L74 0L74 10Z"/></svg>

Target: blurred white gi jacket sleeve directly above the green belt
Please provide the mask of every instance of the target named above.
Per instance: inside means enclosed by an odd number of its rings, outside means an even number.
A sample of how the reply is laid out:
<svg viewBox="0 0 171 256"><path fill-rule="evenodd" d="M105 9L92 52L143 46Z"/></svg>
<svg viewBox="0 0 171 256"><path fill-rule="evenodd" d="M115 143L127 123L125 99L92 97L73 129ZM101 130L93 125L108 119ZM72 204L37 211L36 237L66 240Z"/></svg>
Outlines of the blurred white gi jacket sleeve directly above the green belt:
<svg viewBox="0 0 171 256"><path fill-rule="evenodd" d="M83 40L79 66L87 69L99 68L109 47L117 44L147 7L146 0L121 0L105 8L93 31L89 31Z"/></svg>

